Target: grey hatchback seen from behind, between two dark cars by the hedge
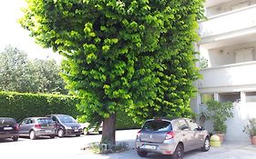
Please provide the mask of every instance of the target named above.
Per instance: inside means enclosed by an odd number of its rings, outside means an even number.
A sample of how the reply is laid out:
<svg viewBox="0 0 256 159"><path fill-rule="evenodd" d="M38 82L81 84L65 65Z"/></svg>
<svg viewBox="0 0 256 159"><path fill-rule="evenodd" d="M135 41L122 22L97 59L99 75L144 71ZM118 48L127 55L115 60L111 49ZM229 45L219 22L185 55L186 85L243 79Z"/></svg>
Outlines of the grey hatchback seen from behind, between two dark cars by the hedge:
<svg viewBox="0 0 256 159"><path fill-rule="evenodd" d="M34 140L38 136L56 136L56 124L50 117L27 117L19 124L20 136Z"/></svg>

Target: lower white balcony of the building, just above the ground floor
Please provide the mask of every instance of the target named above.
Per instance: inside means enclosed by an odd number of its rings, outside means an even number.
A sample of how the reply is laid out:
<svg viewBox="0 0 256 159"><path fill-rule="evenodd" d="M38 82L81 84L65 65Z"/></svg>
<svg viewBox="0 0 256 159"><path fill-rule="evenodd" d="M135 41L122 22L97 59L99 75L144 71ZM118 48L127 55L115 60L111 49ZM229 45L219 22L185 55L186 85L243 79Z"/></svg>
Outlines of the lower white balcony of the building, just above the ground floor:
<svg viewBox="0 0 256 159"><path fill-rule="evenodd" d="M200 92L236 92L256 87L256 62L224 65L202 69L199 80Z"/></svg>

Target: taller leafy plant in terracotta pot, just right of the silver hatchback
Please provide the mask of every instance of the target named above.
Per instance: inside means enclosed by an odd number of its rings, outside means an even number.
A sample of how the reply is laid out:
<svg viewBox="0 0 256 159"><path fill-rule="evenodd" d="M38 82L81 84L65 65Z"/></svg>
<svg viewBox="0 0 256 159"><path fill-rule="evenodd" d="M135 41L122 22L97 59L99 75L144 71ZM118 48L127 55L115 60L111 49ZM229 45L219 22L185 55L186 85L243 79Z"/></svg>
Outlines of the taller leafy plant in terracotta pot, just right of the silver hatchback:
<svg viewBox="0 0 256 159"><path fill-rule="evenodd" d="M233 104L230 102L209 101L206 106L206 117L213 124L213 130L215 134L219 135L220 142L222 143L224 140L224 134L227 131L227 125L225 122L229 117L233 116Z"/></svg>

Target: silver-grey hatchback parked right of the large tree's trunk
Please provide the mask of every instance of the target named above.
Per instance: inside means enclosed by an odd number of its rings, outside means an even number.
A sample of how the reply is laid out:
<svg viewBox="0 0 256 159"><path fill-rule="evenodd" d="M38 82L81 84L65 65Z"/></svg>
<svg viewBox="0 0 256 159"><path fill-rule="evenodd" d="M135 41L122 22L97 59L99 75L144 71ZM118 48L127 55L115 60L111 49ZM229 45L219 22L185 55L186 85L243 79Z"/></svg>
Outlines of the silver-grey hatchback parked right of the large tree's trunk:
<svg viewBox="0 0 256 159"><path fill-rule="evenodd" d="M138 131L136 148L141 157L159 153L182 159L184 152L190 150L208 151L210 135L188 118L149 119Z"/></svg>

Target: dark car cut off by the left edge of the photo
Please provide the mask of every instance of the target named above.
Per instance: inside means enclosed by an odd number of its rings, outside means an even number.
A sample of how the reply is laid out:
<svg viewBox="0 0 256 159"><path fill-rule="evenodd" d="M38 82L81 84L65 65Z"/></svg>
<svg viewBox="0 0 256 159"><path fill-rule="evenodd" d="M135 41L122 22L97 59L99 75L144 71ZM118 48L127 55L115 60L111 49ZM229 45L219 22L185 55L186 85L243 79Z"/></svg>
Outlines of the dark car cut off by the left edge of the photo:
<svg viewBox="0 0 256 159"><path fill-rule="evenodd" d="M12 138L17 141L19 137L18 124L10 117L0 117L0 138Z"/></svg>

